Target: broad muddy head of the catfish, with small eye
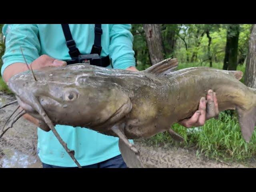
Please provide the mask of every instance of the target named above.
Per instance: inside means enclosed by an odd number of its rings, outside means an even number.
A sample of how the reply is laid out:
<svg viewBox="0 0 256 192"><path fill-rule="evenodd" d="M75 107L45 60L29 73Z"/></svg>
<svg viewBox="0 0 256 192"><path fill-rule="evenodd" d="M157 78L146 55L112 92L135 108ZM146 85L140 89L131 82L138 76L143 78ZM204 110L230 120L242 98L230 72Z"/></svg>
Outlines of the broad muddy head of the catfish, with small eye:
<svg viewBox="0 0 256 192"><path fill-rule="evenodd" d="M59 72L61 71L61 72ZM43 120L45 111L53 124L108 126L130 112L130 98L113 82L97 78L93 70L60 68L13 76L8 86L18 104L31 116Z"/></svg>

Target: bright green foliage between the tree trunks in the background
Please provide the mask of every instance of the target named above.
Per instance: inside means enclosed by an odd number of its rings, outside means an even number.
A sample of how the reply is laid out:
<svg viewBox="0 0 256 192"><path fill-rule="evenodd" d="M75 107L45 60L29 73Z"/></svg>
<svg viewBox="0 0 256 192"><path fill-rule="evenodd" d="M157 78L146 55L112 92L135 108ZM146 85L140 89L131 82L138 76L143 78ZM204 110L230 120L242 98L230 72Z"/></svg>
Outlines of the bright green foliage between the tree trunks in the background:
<svg viewBox="0 0 256 192"><path fill-rule="evenodd" d="M240 24L238 42L238 62L242 64L248 52L248 39L251 24ZM162 40L165 58L178 58L179 62L196 62L208 65L209 54L213 62L223 63L226 47L227 29L230 24L162 24ZM210 53L208 53L209 39L212 38ZM134 34L134 51L136 52L139 70L150 66L150 56L142 24L132 25ZM231 32L230 35L233 33ZM174 48L172 49L172 43ZM185 44L186 43L186 44ZM193 56L194 55L194 56Z"/></svg>

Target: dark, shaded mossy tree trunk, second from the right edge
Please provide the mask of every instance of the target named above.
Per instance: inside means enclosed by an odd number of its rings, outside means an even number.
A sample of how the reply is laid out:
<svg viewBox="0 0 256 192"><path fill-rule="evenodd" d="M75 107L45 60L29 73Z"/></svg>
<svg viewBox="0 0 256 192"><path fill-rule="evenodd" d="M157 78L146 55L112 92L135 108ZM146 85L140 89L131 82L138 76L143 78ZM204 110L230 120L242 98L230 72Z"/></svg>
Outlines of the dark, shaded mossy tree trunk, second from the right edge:
<svg viewBox="0 0 256 192"><path fill-rule="evenodd" d="M236 70L238 54L239 24L232 24L228 28L224 70Z"/></svg>

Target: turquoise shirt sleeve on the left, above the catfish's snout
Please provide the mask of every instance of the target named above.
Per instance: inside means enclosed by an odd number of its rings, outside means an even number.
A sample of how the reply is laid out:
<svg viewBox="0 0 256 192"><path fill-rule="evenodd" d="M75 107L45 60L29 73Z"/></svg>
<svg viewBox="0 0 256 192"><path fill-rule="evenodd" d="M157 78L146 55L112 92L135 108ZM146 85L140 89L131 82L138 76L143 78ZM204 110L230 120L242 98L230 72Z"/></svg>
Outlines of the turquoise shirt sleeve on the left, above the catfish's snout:
<svg viewBox="0 0 256 192"><path fill-rule="evenodd" d="M36 24L5 24L2 33L6 37L6 49L2 56L2 75L9 65L16 62L25 63L20 46L28 64L39 57L41 47Z"/></svg>

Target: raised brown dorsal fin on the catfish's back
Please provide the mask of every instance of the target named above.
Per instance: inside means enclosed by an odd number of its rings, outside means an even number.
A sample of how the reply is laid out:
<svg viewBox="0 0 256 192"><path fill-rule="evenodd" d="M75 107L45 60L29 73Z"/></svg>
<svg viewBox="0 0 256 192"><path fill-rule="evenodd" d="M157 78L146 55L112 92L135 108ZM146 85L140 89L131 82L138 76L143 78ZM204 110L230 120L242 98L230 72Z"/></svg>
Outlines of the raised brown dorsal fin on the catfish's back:
<svg viewBox="0 0 256 192"><path fill-rule="evenodd" d="M178 59L168 58L144 70L155 75L166 75L178 66Z"/></svg>

